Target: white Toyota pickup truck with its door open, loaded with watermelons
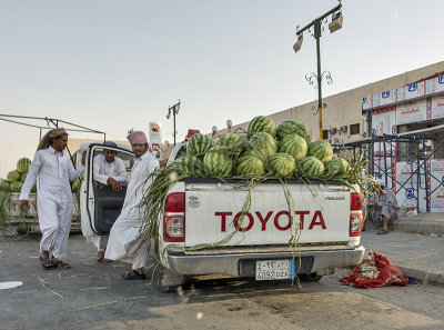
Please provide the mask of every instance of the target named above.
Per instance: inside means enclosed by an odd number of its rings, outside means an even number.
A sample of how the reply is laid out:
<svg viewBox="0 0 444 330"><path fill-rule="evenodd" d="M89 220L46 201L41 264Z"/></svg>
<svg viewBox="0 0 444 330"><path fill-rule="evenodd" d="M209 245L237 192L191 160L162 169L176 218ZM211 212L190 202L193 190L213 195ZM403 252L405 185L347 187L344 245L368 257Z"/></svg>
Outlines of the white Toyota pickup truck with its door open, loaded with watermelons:
<svg viewBox="0 0 444 330"><path fill-rule="evenodd" d="M90 146L89 154L98 148ZM184 154L185 146L176 144L169 163ZM102 234L118 217L124 193L97 189L91 164L89 157L81 189L82 230ZM155 242L163 266L158 267L161 291L203 274L255 280L291 280L304 274L319 280L334 273L336 267L352 267L362 260L362 199L350 187L287 180L294 200L291 217L284 187L268 180L254 187L251 207L241 221L249 188L236 183L234 179L189 178L168 192ZM297 244L290 243L292 238Z"/></svg>

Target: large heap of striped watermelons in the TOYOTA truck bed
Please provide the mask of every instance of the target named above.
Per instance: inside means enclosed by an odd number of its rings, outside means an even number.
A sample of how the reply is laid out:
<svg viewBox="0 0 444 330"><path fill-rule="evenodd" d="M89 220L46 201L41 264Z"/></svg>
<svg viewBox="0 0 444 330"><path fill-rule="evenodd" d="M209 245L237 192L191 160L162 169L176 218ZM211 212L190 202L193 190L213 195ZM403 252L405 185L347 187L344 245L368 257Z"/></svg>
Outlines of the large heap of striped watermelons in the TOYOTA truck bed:
<svg viewBox="0 0 444 330"><path fill-rule="evenodd" d="M349 171L345 159L333 159L329 142L311 139L311 132L297 121L276 127L272 119L258 116L242 134L230 132L216 142L200 133L192 136L186 157L172 167L191 177L220 178L335 179Z"/></svg>

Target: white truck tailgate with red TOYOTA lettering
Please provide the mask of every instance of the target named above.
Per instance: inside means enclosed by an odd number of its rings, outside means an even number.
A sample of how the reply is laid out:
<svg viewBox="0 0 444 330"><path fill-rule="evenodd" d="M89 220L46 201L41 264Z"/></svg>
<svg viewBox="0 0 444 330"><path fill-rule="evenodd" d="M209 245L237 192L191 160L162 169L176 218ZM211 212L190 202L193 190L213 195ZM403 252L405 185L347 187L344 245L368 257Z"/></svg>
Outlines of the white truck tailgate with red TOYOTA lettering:
<svg viewBox="0 0 444 330"><path fill-rule="evenodd" d="M289 183L287 188L294 200L300 243L349 241L351 197L346 187ZM185 246L287 244L296 224L290 219L284 187L279 182L256 186L249 212L238 221L246 199L246 188L234 189L228 183L186 184ZM240 227L238 232L235 227Z"/></svg>

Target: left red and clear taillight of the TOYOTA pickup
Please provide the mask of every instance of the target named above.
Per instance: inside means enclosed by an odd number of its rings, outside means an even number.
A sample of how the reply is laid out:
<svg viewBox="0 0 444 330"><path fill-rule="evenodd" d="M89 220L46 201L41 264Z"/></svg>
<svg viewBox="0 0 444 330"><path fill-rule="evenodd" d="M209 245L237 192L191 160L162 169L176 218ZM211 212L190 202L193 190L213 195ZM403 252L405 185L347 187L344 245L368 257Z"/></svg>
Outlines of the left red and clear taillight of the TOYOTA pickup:
<svg viewBox="0 0 444 330"><path fill-rule="evenodd" d="M185 240L185 193L174 192L167 197L163 213L163 240L183 242Z"/></svg>

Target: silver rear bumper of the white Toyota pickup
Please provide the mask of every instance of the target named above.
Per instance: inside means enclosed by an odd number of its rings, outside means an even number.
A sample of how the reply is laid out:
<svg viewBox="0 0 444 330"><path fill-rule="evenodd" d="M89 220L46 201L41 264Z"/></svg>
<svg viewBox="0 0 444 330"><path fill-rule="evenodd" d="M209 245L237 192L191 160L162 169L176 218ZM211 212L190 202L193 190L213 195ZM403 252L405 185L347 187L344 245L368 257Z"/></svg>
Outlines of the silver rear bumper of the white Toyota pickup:
<svg viewBox="0 0 444 330"><path fill-rule="evenodd" d="M273 259L296 259L303 261L299 273L316 272L329 268L352 267L361 262L365 248L360 246L355 249L335 250L310 250L297 251L295 257L292 251L261 251L261 252L235 252L235 253L211 253L208 251L185 253L180 250L169 250L167 252L167 267L179 274L200 276L200 274L228 274L231 277L251 276L251 271L245 272L246 264L256 260ZM254 266L253 266L254 267Z"/></svg>

